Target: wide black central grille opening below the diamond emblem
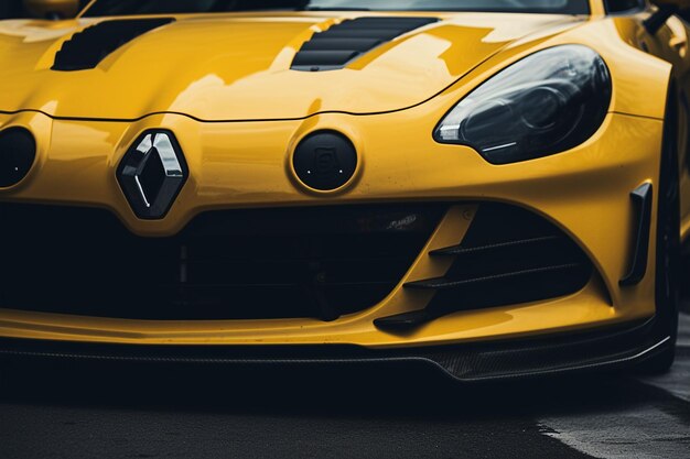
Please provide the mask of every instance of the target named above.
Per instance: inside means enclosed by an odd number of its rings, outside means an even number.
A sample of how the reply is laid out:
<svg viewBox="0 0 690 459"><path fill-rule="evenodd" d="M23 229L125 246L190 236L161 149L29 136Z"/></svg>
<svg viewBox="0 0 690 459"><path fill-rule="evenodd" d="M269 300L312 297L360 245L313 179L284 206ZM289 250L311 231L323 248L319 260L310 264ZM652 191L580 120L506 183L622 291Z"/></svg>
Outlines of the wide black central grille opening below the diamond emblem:
<svg viewBox="0 0 690 459"><path fill-rule="evenodd" d="M440 205L213 211L170 238L109 211L0 205L0 307L134 319L334 319L401 281Z"/></svg>

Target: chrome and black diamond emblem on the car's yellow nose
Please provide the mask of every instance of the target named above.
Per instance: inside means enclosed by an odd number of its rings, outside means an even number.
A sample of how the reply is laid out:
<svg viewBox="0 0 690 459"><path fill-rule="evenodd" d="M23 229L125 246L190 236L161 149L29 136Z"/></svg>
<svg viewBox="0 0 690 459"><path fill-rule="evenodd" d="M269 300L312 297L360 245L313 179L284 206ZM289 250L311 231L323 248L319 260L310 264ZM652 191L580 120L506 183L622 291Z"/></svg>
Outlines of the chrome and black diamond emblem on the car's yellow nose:
<svg viewBox="0 0 690 459"><path fill-rule="evenodd" d="M187 179L182 149L170 131L144 132L125 154L118 182L137 217L165 217Z"/></svg>

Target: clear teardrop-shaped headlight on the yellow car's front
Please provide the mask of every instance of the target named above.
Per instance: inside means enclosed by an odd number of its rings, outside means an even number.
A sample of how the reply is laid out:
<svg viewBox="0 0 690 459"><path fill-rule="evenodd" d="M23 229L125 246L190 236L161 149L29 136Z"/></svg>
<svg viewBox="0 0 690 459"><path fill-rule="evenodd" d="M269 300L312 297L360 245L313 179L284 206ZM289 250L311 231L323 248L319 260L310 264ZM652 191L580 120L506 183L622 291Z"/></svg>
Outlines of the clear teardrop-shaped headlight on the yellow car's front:
<svg viewBox="0 0 690 459"><path fill-rule="evenodd" d="M473 90L441 121L434 139L465 144L493 164L533 160L587 140L611 102L599 54L562 45L528 56Z"/></svg>

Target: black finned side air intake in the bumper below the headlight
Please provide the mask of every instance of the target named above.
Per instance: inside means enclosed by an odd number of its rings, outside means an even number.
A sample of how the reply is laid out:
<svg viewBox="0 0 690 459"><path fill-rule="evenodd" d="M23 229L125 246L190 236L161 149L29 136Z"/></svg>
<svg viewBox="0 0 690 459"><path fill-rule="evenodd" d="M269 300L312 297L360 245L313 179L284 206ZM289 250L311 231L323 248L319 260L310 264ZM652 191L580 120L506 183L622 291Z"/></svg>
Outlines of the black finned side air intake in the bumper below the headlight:
<svg viewBox="0 0 690 459"><path fill-rule="evenodd" d="M586 254L563 231L536 214L504 204L481 204L462 243L430 255L454 261L444 277L406 285L435 292L412 321L570 295L593 273ZM406 320L410 323L410 317Z"/></svg>

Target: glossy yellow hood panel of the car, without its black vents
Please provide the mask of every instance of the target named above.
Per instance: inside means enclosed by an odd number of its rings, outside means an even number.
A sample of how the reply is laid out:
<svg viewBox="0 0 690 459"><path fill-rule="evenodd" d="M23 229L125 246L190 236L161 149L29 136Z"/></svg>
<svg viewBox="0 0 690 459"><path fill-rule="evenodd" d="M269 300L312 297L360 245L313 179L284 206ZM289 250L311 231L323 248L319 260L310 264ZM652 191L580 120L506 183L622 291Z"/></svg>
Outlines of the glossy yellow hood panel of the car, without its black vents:
<svg viewBox="0 0 690 459"><path fill-rule="evenodd" d="M268 120L400 110L434 97L516 41L562 32L583 20L431 15L440 21L376 47L346 68L291 69L295 53L314 33L356 17L324 14L181 15L117 48L95 69L77 72L51 67L63 44L98 20L0 22L0 111L127 120L177 112L200 120Z"/></svg>

